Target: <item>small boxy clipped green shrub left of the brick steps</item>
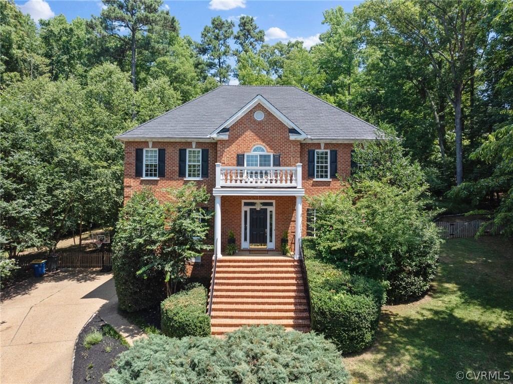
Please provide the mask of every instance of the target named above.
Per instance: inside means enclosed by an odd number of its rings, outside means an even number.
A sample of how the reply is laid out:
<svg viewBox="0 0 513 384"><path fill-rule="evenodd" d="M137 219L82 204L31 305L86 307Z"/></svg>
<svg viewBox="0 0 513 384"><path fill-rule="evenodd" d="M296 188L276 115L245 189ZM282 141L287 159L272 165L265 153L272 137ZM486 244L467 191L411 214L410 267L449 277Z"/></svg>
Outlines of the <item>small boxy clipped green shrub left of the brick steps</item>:
<svg viewBox="0 0 513 384"><path fill-rule="evenodd" d="M207 290L199 284L189 284L161 304L162 333L170 337L209 336Z"/></svg>

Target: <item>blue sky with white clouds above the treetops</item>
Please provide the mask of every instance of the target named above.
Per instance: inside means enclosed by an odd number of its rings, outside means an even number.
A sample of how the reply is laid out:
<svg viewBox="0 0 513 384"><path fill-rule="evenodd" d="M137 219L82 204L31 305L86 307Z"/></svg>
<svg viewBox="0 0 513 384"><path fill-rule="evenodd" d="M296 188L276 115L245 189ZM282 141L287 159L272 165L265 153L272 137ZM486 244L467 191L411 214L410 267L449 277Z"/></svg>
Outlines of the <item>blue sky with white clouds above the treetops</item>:
<svg viewBox="0 0 513 384"><path fill-rule="evenodd" d="M357 1L251 1L251 0L211 0L211 1L165 1L165 7L176 16L181 26L181 34L189 35L199 41L203 27L212 17L221 15L234 20L241 14L257 18L257 24L266 31L266 40L275 43L279 40L299 39L309 48L318 42L318 34L326 30L322 25L323 11L341 5L345 11L351 11ZM68 21L80 16L88 18L98 15L102 3L98 1L54 1L29 0L16 1L24 13L34 20L50 18L63 13Z"/></svg>

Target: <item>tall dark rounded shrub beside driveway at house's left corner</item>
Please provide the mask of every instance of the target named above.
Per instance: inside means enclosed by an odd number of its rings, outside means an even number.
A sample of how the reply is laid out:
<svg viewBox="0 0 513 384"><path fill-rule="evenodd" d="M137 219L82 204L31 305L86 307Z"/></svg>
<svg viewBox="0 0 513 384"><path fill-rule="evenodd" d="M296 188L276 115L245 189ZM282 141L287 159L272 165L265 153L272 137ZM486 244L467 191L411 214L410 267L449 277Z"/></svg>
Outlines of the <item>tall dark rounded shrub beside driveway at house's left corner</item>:
<svg viewBox="0 0 513 384"><path fill-rule="evenodd" d="M142 258L156 245L154 234L163 230L163 215L163 207L149 189L135 193L121 210L112 244L112 271L122 310L147 309L165 297L162 274L137 275Z"/></svg>

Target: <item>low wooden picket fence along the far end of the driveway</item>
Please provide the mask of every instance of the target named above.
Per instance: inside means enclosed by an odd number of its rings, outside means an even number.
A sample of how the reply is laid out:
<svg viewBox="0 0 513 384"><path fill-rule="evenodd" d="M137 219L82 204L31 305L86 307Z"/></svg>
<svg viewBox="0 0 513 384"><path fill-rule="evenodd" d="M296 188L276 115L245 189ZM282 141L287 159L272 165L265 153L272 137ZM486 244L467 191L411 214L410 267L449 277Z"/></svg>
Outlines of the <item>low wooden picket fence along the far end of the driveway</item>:
<svg viewBox="0 0 513 384"><path fill-rule="evenodd" d="M60 257L60 267L68 267L68 268L100 268L103 266L102 263L102 253L95 252L64 252L57 254ZM46 259L48 255L42 254L33 254L33 255L24 255L18 256L15 258L16 264L22 268L30 267L30 263L35 259ZM112 265L112 253L105 252L105 265Z"/></svg>

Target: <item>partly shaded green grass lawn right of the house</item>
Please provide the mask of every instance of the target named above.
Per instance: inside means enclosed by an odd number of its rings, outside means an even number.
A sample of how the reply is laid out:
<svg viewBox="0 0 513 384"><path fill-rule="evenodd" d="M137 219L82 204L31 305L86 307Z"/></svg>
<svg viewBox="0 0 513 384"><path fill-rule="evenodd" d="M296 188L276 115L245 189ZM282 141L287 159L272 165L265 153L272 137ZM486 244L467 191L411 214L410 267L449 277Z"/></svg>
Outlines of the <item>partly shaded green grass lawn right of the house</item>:
<svg viewBox="0 0 513 384"><path fill-rule="evenodd" d="M353 383L513 383L513 242L446 241L431 293L383 307L376 344L345 364ZM509 379L459 380L459 371Z"/></svg>

